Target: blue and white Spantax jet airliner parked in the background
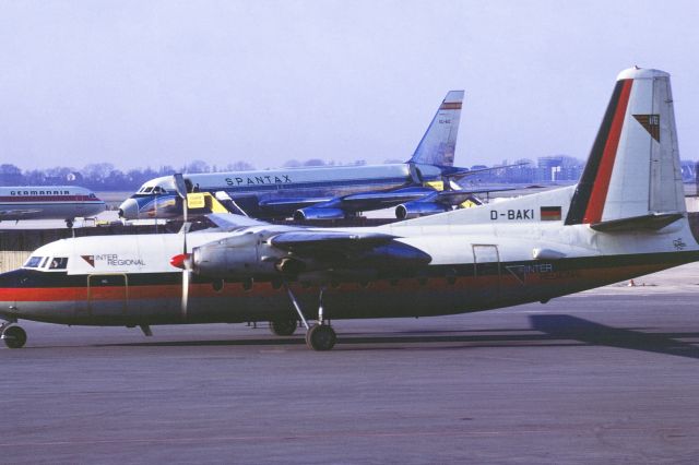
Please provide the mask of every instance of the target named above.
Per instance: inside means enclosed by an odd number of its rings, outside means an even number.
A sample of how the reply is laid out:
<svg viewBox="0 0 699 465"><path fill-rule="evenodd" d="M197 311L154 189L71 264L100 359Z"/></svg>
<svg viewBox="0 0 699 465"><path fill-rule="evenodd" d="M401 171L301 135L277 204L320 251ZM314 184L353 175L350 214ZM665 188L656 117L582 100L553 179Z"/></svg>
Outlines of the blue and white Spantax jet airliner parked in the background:
<svg viewBox="0 0 699 465"><path fill-rule="evenodd" d="M473 194L494 191L461 190L451 182L452 178L481 171L453 166L463 94L447 94L406 163L186 174L185 182L189 191L225 192L236 206L256 218L342 219L392 206L399 218L447 212ZM428 184L434 181L443 181L445 189ZM121 204L119 214L125 219L180 217L182 200L174 178L145 182Z"/></svg>

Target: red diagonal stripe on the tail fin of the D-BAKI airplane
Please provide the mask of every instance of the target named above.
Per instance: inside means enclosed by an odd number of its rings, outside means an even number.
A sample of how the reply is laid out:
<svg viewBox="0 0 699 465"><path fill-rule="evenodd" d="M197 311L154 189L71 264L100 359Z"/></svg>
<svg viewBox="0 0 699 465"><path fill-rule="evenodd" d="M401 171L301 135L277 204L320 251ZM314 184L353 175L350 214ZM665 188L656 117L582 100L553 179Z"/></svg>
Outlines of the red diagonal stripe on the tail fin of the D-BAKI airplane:
<svg viewBox="0 0 699 465"><path fill-rule="evenodd" d="M621 88L621 95L619 96L619 104L616 107L616 112L614 114L612 128L609 128L609 135L607 138L606 144L604 145L602 160L600 162L597 177L594 180L592 194L590 195L590 201L588 202L588 208L585 210L585 215L582 219L582 223L593 224L600 223L600 220L602 220L602 212L604 211L604 203L607 198L607 191L609 190L612 170L614 169L616 151L619 147L619 139L621 138L624 118L626 116L626 109L628 107L632 84L633 80L624 81L624 87Z"/></svg>

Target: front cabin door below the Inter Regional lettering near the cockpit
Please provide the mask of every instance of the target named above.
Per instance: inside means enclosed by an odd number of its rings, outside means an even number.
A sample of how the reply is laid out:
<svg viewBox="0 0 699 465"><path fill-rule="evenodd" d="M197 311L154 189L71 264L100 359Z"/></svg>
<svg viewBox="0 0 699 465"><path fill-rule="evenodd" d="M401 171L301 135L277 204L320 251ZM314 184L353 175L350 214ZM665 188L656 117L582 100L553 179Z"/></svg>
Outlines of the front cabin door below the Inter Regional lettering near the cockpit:
<svg viewBox="0 0 699 465"><path fill-rule="evenodd" d="M126 274L91 274L87 276L87 311L93 318L123 318L129 300Z"/></svg>

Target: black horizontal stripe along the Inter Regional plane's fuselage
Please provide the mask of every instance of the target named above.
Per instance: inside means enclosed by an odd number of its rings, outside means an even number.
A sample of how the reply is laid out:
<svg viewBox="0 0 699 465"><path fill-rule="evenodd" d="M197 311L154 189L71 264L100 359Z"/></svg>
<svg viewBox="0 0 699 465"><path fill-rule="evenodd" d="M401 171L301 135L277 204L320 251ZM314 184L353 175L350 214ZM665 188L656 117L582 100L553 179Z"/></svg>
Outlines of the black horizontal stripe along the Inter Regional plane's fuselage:
<svg viewBox="0 0 699 465"><path fill-rule="evenodd" d="M477 276L509 276L516 273L518 266L552 265L552 272L571 272L578 270L608 270L633 265L662 265L676 266L699 260L699 251L690 252L663 252L627 255L584 257L574 259L560 259L555 261L529 260L518 262L430 265L416 271L381 272L371 281L400 279L400 278L435 278L435 277L473 277ZM99 275L94 273L93 275ZM181 273L127 273L129 287L174 285L181 284ZM87 275L69 275L66 272L39 272L36 270L20 269L0 274L0 288L57 288L57 287L84 287ZM281 278L281 276L280 276ZM213 283L216 279L201 276L192 276L192 284ZM264 279L268 281L269 279ZM293 279L289 279L293 281ZM227 283L240 281L226 279ZM261 281L259 281L261 282Z"/></svg>

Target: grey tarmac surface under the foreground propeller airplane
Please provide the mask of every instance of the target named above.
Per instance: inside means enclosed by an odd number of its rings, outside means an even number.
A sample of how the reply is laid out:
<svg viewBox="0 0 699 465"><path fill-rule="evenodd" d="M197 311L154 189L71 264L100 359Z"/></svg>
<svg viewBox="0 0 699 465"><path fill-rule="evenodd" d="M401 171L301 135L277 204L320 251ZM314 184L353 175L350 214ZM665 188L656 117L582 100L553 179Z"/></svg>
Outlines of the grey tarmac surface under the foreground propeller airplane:
<svg viewBox="0 0 699 465"><path fill-rule="evenodd" d="M697 463L699 264L547 305L245 325L24 322L0 463ZM644 286L643 286L644 284Z"/></svg>

